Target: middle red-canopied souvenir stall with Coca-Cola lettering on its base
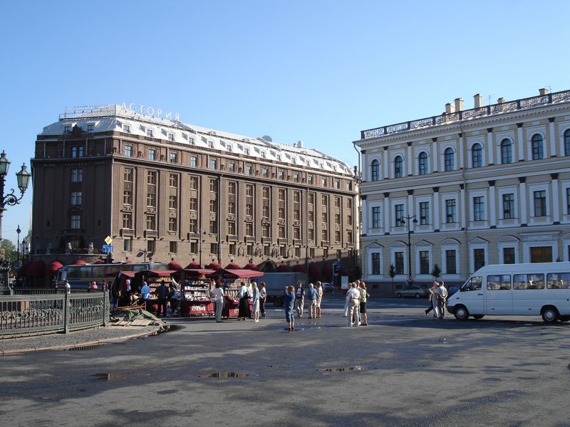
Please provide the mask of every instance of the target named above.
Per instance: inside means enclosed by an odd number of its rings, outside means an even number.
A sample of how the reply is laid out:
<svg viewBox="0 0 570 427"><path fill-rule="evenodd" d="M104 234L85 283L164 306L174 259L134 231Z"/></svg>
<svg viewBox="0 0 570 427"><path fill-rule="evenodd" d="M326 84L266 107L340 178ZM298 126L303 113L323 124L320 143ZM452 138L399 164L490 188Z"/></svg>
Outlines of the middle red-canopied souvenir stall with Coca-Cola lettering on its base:
<svg viewBox="0 0 570 427"><path fill-rule="evenodd" d="M214 302L210 296L213 280L208 275L214 270L192 269L180 270L180 286L182 287L182 316L214 315Z"/></svg>

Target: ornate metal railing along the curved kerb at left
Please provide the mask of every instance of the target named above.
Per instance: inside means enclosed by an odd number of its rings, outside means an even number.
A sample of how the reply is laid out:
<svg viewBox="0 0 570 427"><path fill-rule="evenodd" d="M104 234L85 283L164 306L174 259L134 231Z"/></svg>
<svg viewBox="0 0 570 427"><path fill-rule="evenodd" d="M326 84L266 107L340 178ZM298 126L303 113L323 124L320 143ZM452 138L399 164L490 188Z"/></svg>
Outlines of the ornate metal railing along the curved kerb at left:
<svg viewBox="0 0 570 427"><path fill-rule="evenodd" d="M0 339L106 326L109 292L0 297Z"/></svg>

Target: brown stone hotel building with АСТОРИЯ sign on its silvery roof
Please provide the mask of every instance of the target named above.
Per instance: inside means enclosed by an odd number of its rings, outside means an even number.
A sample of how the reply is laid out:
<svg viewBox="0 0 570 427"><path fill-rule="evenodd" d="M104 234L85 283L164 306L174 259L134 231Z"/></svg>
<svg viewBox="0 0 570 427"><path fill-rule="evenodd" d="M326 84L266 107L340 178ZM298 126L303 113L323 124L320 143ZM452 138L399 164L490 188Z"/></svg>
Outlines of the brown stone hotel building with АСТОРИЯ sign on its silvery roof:
<svg viewBox="0 0 570 427"><path fill-rule="evenodd" d="M69 243L97 252L110 236L115 260L322 266L338 257L353 268L357 189L346 164L302 142L140 110L76 110L38 135L34 253L65 252Z"/></svg>

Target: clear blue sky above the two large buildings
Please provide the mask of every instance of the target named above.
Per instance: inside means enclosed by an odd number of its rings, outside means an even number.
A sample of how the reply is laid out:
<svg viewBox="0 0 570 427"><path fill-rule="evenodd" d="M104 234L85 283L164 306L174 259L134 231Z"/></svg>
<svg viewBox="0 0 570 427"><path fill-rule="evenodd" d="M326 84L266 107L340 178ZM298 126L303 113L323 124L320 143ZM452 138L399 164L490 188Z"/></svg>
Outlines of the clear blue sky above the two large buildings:
<svg viewBox="0 0 570 427"><path fill-rule="evenodd" d="M360 131L570 89L569 1L4 1L0 149L14 174L75 105L136 102L191 125L299 139L357 164ZM4 214L24 237L31 191Z"/></svg>

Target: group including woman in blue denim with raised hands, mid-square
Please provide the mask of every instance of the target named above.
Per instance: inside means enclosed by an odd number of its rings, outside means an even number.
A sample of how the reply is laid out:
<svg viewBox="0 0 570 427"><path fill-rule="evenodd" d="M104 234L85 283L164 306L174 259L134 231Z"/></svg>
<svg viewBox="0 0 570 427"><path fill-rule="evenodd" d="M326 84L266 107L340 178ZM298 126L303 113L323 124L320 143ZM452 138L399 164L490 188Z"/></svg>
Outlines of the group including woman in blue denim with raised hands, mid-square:
<svg viewBox="0 0 570 427"><path fill-rule="evenodd" d="M285 288L285 320L287 327L285 330L295 330L295 312L298 317L303 317L305 308L305 298L309 319L321 317L321 301L323 300L323 285L317 282L316 285L309 283L309 289L304 290L301 282L297 283L297 288L293 285Z"/></svg>

